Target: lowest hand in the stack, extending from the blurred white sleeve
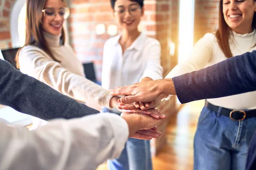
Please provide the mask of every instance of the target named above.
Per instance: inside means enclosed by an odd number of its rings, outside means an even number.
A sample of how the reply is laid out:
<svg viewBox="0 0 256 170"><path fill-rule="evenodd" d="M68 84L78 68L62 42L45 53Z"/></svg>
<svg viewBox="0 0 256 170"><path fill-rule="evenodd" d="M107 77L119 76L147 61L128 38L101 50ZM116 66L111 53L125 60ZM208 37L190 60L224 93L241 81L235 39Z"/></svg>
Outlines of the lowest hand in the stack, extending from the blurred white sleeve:
<svg viewBox="0 0 256 170"><path fill-rule="evenodd" d="M124 112L121 116L128 124L129 137L150 140L152 137L157 138L160 136L160 133L155 133L154 128L160 122L163 122L163 119L154 119L144 113Z"/></svg>

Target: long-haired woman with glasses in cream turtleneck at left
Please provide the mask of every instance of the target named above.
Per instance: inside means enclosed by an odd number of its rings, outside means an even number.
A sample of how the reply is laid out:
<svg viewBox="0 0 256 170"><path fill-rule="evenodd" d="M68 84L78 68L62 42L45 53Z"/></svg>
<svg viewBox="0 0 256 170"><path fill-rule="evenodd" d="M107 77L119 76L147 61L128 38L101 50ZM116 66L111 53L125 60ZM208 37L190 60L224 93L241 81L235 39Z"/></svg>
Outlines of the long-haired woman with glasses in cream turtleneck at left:
<svg viewBox="0 0 256 170"><path fill-rule="evenodd" d="M27 0L26 10L26 42L17 53L17 68L78 101L116 107L118 98L85 78L83 65L66 43L63 23L69 16L67 3Z"/></svg>

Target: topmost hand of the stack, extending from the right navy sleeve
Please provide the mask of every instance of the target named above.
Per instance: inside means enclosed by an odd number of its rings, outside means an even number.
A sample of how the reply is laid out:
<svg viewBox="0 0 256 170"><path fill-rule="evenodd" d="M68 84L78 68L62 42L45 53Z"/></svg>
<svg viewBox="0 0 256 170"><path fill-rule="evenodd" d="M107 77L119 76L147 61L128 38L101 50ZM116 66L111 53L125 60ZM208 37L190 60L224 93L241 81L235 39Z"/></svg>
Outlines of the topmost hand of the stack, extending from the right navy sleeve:
<svg viewBox="0 0 256 170"><path fill-rule="evenodd" d="M134 85L116 87L110 91L112 96L122 95L118 102L129 104L134 102L155 101L161 94L176 95L172 79L140 82Z"/></svg>

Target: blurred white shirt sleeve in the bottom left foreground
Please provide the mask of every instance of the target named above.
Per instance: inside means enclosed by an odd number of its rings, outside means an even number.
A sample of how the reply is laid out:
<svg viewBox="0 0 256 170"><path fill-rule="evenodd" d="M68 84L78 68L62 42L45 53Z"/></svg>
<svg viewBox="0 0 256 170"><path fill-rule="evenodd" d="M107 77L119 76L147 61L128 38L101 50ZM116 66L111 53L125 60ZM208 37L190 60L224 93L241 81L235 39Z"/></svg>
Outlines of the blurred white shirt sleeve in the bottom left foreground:
<svg viewBox="0 0 256 170"><path fill-rule="evenodd" d="M54 120L33 131L0 122L0 129L0 170L95 170L120 155L129 133L111 113Z"/></svg>

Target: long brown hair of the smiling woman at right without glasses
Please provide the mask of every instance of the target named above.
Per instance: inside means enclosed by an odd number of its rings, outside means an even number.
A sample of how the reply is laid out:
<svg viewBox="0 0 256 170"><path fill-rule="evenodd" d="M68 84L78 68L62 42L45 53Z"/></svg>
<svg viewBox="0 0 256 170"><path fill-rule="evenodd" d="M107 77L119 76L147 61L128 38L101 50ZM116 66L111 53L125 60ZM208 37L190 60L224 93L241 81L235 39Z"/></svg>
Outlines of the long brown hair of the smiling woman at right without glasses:
<svg viewBox="0 0 256 170"><path fill-rule="evenodd" d="M256 1L256 0L253 0ZM224 55L227 58L233 57L233 54L230 50L229 39L230 39L230 31L231 28L227 25L224 14L223 14L223 0L220 0L219 3L219 28L216 31L215 37L218 40L218 45L223 51ZM252 28L256 28L256 12L253 15ZM256 44L253 46L255 47Z"/></svg>

